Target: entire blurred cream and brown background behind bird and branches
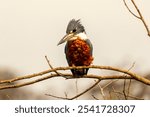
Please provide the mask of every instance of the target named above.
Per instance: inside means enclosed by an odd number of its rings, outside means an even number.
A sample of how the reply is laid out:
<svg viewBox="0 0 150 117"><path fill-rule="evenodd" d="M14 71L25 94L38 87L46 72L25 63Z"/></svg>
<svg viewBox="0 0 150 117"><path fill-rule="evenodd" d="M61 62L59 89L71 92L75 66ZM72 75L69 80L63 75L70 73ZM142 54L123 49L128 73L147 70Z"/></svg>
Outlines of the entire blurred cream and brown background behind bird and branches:
<svg viewBox="0 0 150 117"><path fill-rule="evenodd" d="M150 27L150 1L135 2ZM127 3L137 14L130 0ZM129 69L135 62L131 71L149 78L150 37L142 22L128 12L123 0L0 0L0 79L49 69L45 55L53 67L68 66L65 45L57 46L57 43L73 18L81 19L93 44L93 64ZM94 70L89 73L107 74ZM100 85L103 87L110 82L102 81ZM114 88L121 92L123 82L107 86L105 99L124 99L112 92ZM78 92L93 83L94 80L78 80ZM130 93L150 99L149 86L139 82L132 81ZM1 90L0 99L55 99L45 94L74 96L76 80L59 77L18 89ZM94 99L93 95L104 99L98 86L78 99Z"/></svg>

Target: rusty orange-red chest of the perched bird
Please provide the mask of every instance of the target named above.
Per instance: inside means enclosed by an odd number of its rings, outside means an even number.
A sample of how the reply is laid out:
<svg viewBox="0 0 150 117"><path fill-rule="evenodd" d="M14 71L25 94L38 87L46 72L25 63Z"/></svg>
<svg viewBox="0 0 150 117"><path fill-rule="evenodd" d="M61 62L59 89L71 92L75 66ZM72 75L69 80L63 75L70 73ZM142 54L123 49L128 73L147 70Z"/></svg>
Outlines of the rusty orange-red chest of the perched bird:
<svg viewBox="0 0 150 117"><path fill-rule="evenodd" d="M90 57L90 47L86 41L75 39L67 43L66 57L70 64L83 64Z"/></svg>

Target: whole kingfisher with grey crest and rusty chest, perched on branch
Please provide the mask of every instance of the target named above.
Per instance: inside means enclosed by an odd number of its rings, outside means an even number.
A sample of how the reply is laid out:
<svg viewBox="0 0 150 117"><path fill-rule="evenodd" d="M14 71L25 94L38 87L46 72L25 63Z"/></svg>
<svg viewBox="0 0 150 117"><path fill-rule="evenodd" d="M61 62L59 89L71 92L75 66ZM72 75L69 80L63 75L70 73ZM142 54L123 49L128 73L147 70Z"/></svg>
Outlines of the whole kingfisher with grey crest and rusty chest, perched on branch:
<svg viewBox="0 0 150 117"><path fill-rule="evenodd" d="M89 66L93 61L93 46L87 38L84 26L80 19L72 19L66 30L66 35L58 45L67 41L65 46L66 59L69 66ZM74 77L87 75L89 68L71 69Z"/></svg>

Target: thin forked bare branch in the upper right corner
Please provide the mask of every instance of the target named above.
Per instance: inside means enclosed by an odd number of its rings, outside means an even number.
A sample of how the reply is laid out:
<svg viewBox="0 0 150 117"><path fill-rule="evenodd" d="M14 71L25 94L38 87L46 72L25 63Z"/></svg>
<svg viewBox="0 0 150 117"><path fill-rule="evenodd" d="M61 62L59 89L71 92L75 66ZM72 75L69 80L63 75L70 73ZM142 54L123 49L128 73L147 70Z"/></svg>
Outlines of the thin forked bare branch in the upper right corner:
<svg viewBox="0 0 150 117"><path fill-rule="evenodd" d="M147 34L148 34L148 36L150 36L150 30L149 30L149 28L148 28L148 25L146 24L145 19L144 19L142 13L140 12L139 8L138 8L137 5L135 4L134 0L131 0L131 2L132 2L132 4L133 4L133 6L135 7L135 9L136 9L136 11L137 11L137 13L138 13L139 16L135 15L135 14L130 10L130 8L128 7L128 5L127 5L127 3L126 3L126 0L123 0L123 2L124 2L124 4L125 4L126 8L128 9L128 11L129 11L134 17L140 19L140 20L143 22L144 27L146 28Z"/></svg>

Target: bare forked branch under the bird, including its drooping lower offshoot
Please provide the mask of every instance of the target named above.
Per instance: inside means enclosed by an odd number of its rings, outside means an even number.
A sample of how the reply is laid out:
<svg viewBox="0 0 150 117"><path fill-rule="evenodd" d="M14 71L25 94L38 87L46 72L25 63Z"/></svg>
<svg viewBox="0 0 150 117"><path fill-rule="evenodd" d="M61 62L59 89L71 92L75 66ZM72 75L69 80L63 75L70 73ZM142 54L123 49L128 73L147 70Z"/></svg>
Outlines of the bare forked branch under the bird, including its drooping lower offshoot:
<svg viewBox="0 0 150 117"><path fill-rule="evenodd" d="M90 69L99 69L99 70L104 69L104 70L116 71L117 75L100 76L100 75L88 74L88 75L85 75L84 77L74 78L72 76L72 74L67 74L67 73L58 74L57 73L58 71L61 71L61 70L81 69L81 68L90 68ZM122 74L118 75L118 72L122 73ZM57 68L45 70L45 71L42 71L42 72L39 72L39 73L35 73L35 74L13 78L13 79L10 79L10 80L1 80L0 81L0 90L28 86L28 85L31 85L31 84L34 84L34 83L41 82L43 80L47 80L47 79L50 79L50 78L56 78L56 77L62 77L62 78L65 78L65 79L67 78L67 80L81 79L81 78L82 79L83 78L85 78L85 79L97 79L95 84L93 84L89 88L85 89L83 92L81 92L79 94L76 94L74 97L71 97L71 98L68 98L67 96L66 97L59 97L59 96L54 96L54 95L51 95L51 94L46 94L46 95L49 95L51 97L55 97L55 98L59 98L59 99L67 99L67 100L73 100L73 99L76 99L79 96L85 94L86 92L88 92L89 90L91 90L95 86L97 86L97 84L101 80L116 79L115 81L117 81L119 79L134 79L134 80L140 81L140 82L142 82L146 85L150 85L150 80L148 80L148 79L146 79L142 76L139 76L139 75L137 75L137 74L135 74L135 73L133 73L129 70L119 69L119 68L115 68L115 67L111 67L111 66L91 65L91 66L78 66L78 67L75 67L75 66L74 67L57 67ZM24 82L23 83L17 82L17 81L20 81L20 80L24 81ZM16 83L12 84L12 82L16 82ZM113 83L113 82L114 81L112 81L111 83ZM102 87L102 88L104 89L105 87ZM126 95L126 97L130 97L130 96ZM111 92L110 92L110 99L111 99Z"/></svg>

